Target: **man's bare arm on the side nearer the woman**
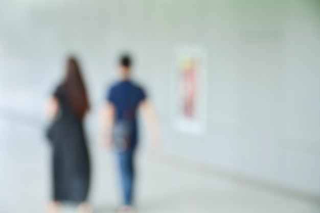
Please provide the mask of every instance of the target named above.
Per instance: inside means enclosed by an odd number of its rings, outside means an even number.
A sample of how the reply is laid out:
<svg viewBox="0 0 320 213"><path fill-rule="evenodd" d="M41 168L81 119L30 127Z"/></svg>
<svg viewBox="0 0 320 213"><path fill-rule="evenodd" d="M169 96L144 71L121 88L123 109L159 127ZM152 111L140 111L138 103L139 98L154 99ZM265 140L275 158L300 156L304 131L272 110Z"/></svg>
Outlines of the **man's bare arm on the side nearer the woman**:
<svg viewBox="0 0 320 213"><path fill-rule="evenodd" d="M110 101L106 101L99 114L99 143L103 146L111 145L114 120L115 106Z"/></svg>

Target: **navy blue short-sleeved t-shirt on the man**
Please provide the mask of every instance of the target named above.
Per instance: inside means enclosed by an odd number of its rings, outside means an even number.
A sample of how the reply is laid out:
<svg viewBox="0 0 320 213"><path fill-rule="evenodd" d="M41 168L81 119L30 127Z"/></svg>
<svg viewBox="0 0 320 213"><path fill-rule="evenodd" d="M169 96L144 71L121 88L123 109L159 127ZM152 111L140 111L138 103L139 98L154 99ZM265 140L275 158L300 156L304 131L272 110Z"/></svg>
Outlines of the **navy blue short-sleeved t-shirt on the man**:
<svg viewBox="0 0 320 213"><path fill-rule="evenodd" d="M141 101L146 98L145 91L132 81L120 81L113 85L107 100L116 108L116 120L136 122L136 111Z"/></svg>

